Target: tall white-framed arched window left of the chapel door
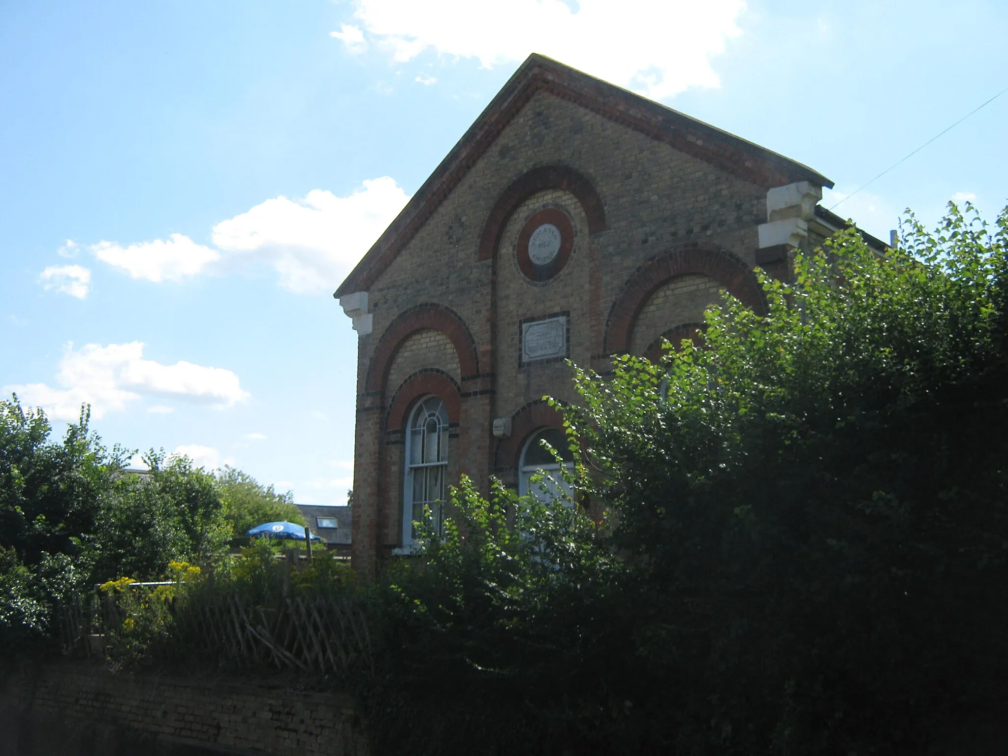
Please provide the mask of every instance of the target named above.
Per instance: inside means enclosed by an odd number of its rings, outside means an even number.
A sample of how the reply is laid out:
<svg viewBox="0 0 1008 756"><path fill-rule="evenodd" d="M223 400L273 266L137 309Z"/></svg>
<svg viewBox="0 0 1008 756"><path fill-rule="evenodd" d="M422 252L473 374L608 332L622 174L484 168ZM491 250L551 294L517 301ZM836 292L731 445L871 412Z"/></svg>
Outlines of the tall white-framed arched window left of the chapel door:
<svg viewBox="0 0 1008 756"><path fill-rule="evenodd" d="M448 472L448 409L436 396L419 402L409 416L406 431L406 480L402 503L402 545L416 538L413 522L430 507L433 526L440 532L445 475Z"/></svg>

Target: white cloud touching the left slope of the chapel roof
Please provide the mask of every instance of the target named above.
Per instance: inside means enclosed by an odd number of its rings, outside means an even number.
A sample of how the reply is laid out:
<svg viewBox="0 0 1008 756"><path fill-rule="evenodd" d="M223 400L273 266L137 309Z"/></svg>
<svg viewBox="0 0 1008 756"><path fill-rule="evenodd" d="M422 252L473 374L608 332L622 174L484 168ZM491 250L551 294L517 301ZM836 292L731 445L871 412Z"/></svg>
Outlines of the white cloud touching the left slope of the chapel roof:
<svg viewBox="0 0 1008 756"><path fill-rule="evenodd" d="M314 190L303 200L277 197L214 227L223 264L262 260L299 294L339 285L409 200L392 178L364 181L349 197Z"/></svg>

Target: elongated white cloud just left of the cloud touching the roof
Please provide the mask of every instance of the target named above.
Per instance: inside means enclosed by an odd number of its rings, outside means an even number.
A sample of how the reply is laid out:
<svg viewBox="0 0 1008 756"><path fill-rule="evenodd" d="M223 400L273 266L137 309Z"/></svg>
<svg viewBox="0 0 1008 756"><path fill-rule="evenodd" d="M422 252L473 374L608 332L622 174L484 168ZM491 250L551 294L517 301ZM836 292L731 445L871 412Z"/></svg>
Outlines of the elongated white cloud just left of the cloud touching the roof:
<svg viewBox="0 0 1008 756"><path fill-rule="evenodd" d="M114 242L99 242L91 247L102 262L122 268L133 278L148 281L177 281L202 272L220 254L197 244L187 236L171 234L167 240L155 239L121 247Z"/></svg>

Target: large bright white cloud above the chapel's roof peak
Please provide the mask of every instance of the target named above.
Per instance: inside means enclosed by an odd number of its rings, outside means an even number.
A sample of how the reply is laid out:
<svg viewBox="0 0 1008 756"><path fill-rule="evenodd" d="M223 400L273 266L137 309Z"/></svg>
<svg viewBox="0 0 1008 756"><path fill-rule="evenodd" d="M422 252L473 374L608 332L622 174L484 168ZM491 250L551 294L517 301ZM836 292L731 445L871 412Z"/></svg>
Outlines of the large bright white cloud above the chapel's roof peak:
<svg viewBox="0 0 1008 756"><path fill-rule="evenodd" d="M397 61L426 49L484 68L541 52L647 97L717 87L712 55L740 34L744 0L356 0L332 35L351 52L370 41ZM365 35L365 32L367 35Z"/></svg>

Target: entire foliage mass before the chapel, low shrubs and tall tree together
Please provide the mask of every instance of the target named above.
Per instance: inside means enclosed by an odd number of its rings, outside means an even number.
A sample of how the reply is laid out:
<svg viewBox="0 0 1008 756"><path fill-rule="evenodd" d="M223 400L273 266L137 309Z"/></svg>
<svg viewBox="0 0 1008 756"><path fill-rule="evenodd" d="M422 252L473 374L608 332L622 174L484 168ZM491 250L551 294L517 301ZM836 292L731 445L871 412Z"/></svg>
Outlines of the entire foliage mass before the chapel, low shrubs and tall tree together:
<svg viewBox="0 0 1008 756"><path fill-rule="evenodd" d="M1008 209L902 239L841 234L761 279L764 314L709 309L703 347L576 371L602 523L454 494L377 589L376 752L997 750Z"/></svg>

